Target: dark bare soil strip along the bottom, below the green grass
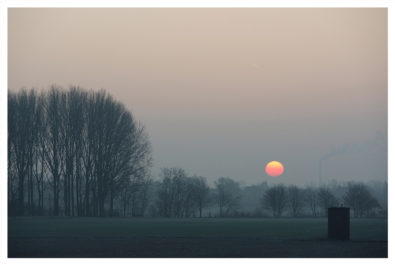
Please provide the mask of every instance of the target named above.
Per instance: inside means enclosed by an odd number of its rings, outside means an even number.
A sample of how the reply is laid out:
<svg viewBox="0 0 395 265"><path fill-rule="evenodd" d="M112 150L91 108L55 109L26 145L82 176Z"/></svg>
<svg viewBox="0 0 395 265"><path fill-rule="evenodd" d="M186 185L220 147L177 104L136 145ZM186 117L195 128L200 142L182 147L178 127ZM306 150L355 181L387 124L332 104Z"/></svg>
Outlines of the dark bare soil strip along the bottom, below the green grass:
<svg viewBox="0 0 395 265"><path fill-rule="evenodd" d="M387 241L9 237L8 257L387 257Z"/></svg>

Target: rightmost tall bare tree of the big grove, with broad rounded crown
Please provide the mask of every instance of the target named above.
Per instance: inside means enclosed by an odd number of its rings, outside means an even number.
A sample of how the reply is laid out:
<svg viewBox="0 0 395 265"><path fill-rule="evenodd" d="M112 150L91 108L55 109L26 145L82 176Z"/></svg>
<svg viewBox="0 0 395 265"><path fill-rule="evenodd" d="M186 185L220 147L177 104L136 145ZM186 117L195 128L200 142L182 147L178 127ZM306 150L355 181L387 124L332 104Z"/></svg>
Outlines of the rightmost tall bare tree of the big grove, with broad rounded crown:
<svg viewBox="0 0 395 265"><path fill-rule="evenodd" d="M135 120L123 103L103 89L91 93L88 109L91 165L87 167L93 173L90 181L93 215L104 217L107 195L110 195L112 215L113 199L122 181L139 179L141 172L152 165L152 147L145 126Z"/></svg>

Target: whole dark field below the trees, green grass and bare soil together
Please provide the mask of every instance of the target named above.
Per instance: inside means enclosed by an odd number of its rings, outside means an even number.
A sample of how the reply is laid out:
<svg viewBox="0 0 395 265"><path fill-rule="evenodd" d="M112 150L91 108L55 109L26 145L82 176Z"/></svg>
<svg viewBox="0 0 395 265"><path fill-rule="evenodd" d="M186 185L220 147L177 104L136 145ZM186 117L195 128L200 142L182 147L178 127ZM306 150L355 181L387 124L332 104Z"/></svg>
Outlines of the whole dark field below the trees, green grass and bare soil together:
<svg viewBox="0 0 395 265"><path fill-rule="evenodd" d="M387 219L352 218L327 241L325 218L8 220L8 257L387 257Z"/></svg>

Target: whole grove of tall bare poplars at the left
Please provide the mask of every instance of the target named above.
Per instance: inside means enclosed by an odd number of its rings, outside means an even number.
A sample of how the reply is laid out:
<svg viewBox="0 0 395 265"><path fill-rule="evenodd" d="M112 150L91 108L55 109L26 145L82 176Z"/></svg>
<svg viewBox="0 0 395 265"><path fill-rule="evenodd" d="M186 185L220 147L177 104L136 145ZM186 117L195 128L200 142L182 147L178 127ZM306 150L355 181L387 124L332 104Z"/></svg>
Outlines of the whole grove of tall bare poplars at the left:
<svg viewBox="0 0 395 265"><path fill-rule="evenodd" d="M130 194L144 209L151 165L145 126L105 90L8 90L9 215L44 215L52 202L54 215L103 217L109 203L113 216Z"/></svg>

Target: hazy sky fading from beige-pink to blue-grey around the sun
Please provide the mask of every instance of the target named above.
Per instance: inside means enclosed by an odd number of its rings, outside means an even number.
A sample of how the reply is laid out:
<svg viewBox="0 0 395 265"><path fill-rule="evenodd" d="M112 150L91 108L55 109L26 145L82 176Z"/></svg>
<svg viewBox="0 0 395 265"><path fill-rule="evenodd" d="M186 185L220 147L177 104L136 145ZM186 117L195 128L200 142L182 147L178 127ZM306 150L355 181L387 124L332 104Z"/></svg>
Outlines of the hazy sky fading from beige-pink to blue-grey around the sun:
<svg viewBox="0 0 395 265"><path fill-rule="evenodd" d="M105 88L156 175L386 180L387 29L387 8L9 8L8 88Z"/></svg>

